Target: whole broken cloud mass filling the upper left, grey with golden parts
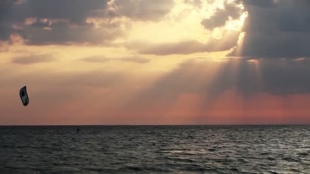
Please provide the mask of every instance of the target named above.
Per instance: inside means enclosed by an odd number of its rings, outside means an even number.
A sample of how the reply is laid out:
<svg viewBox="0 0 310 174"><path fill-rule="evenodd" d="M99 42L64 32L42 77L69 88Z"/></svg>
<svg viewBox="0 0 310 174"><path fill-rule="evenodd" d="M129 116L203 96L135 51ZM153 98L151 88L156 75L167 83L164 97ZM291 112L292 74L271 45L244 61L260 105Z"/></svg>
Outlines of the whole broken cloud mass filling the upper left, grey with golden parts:
<svg viewBox="0 0 310 174"><path fill-rule="evenodd" d="M18 34L27 45L104 46L125 36L131 27L130 20L159 20L174 5L172 0L28 0L0 3L0 41L9 41L10 35Z"/></svg>

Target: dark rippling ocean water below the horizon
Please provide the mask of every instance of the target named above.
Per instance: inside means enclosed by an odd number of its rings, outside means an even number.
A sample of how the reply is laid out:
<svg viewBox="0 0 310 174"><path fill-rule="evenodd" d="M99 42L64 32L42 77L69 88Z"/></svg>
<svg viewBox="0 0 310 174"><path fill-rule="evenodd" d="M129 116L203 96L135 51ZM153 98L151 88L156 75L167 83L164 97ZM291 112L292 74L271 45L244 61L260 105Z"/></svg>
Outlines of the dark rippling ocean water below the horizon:
<svg viewBox="0 0 310 174"><path fill-rule="evenodd" d="M0 173L310 173L310 126L1 126Z"/></svg>

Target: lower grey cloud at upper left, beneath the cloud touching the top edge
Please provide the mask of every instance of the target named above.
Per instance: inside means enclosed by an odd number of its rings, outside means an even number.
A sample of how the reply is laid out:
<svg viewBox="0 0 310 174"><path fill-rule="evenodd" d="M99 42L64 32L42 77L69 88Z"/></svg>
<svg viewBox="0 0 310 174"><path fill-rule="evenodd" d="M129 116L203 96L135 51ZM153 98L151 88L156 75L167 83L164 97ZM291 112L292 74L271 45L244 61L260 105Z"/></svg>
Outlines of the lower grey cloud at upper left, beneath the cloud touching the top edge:
<svg viewBox="0 0 310 174"><path fill-rule="evenodd" d="M123 36L121 28L95 28L92 24L78 27L70 26L67 22L57 22L49 26L51 29L25 27L22 36L25 44L96 44L110 45L110 41ZM35 34L34 34L35 33Z"/></svg>

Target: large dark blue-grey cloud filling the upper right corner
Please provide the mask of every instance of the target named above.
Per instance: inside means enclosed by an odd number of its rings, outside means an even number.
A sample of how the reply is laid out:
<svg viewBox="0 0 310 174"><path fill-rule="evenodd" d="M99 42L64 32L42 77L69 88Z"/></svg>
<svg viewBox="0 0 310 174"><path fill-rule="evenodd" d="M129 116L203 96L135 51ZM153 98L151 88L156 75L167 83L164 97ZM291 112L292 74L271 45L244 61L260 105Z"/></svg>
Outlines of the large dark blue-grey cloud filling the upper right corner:
<svg viewBox="0 0 310 174"><path fill-rule="evenodd" d="M256 2L256 3L254 3ZM310 2L244 0L248 17L243 44L229 56L309 57ZM240 51L237 51L240 50Z"/></svg>

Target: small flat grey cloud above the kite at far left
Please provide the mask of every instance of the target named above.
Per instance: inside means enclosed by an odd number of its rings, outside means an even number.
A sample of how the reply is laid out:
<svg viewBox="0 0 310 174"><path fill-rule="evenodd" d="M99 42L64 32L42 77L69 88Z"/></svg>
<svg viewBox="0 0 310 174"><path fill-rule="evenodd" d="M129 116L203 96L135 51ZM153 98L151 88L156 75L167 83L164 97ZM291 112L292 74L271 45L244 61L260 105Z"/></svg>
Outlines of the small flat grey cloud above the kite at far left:
<svg viewBox="0 0 310 174"><path fill-rule="evenodd" d="M48 63L55 62L57 59L52 54L37 54L28 56L13 57L12 63L15 64L37 64L37 63Z"/></svg>

